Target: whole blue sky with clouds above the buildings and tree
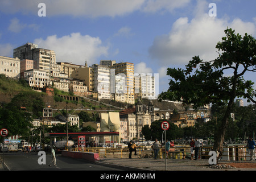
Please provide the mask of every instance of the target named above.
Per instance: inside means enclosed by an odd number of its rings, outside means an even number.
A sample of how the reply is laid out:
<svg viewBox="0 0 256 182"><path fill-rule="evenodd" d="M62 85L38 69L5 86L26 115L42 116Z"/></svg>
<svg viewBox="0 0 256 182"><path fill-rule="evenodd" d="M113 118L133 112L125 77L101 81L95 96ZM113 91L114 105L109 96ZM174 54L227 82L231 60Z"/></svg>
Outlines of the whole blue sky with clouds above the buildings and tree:
<svg viewBox="0 0 256 182"><path fill-rule="evenodd" d="M130 62L134 73L158 74L161 93L167 68L216 59L227 27L256 37L255 8L255 0L0 0L0 55L30 42L57 62Z"/></svg>

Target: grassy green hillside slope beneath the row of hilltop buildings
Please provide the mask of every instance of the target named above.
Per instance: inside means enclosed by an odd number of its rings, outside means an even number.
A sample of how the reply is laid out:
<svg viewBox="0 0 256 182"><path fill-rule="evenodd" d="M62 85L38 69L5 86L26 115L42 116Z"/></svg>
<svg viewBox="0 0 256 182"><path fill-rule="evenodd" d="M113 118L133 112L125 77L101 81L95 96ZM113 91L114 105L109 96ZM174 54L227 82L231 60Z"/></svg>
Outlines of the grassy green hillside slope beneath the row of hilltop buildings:
<svg viewBox="0 0 256 182"><path fill-rule="evenodd" d="M25 80L14 80L12 78L6 78L5 75L0 75L0 103L5 104L9 103L11 101L11 98L13 98L16 94L20 92L36 92L35 90L32 90L30 86L28 86L27 82ZM62 94L69 94L67 92L63 93L60 90L55 89L56 94L62 93ZM80 99L79 102L77 101L68 101L68 100L61 100L59 101L56 97L57 96L48 96L46 93L38 92L38 94L41 94L43 96L43 100L45 103L45 106L51 105L54 109L63 110L68 107L68 109L77 109L79 107L84 107L84 109L92 109L92 110L118 110L114 107L109 107L109 105L121 107L123 109L126 109L127 107L131 107L130 104L122 103L122 102L116 102L113 100L101 100L93 101L93 100L86 100ZM143 100L142 103L145 105L148 105L150 100ZM152 100L154 106L156 108L159 108L160 110L181 110L184 109L183 105L176 104L174 102L166 102L162 101L159 102L158 100ZM105 105L104 105L105 103Z"/></svg>

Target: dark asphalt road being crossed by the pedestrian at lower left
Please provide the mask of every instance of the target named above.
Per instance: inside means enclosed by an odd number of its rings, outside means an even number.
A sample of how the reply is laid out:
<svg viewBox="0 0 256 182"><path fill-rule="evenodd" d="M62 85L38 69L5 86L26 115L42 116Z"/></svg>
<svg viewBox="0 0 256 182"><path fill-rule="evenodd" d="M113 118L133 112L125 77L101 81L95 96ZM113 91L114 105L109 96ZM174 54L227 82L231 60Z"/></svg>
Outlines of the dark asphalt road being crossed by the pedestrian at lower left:
<svg viewBox="0 0 256 182"><path fill-rule="evenodd" d="M49 167L52 156L46 155L46 164L38 164L38 153L5 153L5 171L118 171L118 168L88 163L83 159L72 159L56 155L57 167ZM2 153L0 153L2 159ZM42 160L41 160L42 161ZM2 163L0 170L3 170Z"/></svg>

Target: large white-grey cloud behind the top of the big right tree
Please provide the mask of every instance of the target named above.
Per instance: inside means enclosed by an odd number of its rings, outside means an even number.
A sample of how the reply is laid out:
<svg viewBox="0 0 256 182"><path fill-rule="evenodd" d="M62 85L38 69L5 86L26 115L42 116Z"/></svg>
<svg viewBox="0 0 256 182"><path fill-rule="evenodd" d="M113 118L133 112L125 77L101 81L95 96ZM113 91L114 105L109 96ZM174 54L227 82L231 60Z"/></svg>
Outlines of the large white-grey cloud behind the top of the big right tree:
<svg viewBox="0 0 256 182"><path fill-rule="evenodd" d="M149 48L150 56L165 67L185 65L193 56L204 60L215 59L218 56L216 44L225 36L227 27L242 35L256 32L255 23L241 19L228 22L227 19L210 17L208 13L197 14L191 21L183 17L175 21L169 34L156 36Z"/></svg>

